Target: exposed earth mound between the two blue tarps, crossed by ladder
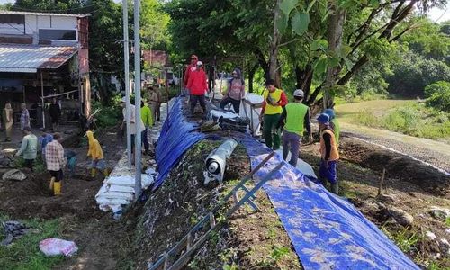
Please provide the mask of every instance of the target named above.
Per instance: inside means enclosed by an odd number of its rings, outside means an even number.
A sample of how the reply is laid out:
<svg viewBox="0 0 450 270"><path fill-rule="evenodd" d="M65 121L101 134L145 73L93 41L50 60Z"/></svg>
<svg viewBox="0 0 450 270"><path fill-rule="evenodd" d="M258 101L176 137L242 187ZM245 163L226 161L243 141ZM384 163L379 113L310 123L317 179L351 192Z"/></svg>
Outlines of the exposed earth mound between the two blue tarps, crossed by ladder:
<svg viewBox="0 0 450 270"><path fill-rule="evenodd" d="M220 142L209 140L196 144L149 198L138 222L138 246L131 254L139 262L138 269L146 269L148 262L156 261L168 247L173 247L249 173L247 153L238 146L227 161L224 182L203 186L204 159L219 145ZM221 229L213 231L185 268L222 269L228 265L242 269L280 269L283 268L277 266L280 263L285 269L299 269L290 239L265 193L257 193L257 203L262 212L252 213L247 206L239 209Z"/></svg>

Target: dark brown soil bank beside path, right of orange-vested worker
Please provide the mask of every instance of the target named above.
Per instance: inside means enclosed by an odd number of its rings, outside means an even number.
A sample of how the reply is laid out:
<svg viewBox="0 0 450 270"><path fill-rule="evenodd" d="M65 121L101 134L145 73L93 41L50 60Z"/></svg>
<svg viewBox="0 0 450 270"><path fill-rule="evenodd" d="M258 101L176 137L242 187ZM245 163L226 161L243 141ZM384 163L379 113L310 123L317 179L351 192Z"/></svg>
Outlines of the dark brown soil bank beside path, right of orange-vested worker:
<svg viewBox="0 0 450 270"><path fill-rule="evenodd" d="M385 168L390 177L417 184L427 192L442 196L450 192L450 176L410 157L347 137L339 149L344 159L378 172Z"/></svg>

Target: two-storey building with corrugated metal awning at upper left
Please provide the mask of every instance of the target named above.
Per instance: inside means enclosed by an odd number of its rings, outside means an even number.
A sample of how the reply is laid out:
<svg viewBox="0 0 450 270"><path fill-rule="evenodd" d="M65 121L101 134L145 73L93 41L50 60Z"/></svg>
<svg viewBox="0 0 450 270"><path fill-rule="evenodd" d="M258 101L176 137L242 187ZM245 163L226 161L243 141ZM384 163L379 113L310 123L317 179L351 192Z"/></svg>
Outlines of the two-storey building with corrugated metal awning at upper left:
<svg viewBox="0 0 450 270"><path fill-rule="evenodd" d="M49 122L46 108L61 103L63 121L90 113L88 19L85 14L0 11L0 106L14 114L27 103L32 124Z"/></svg>

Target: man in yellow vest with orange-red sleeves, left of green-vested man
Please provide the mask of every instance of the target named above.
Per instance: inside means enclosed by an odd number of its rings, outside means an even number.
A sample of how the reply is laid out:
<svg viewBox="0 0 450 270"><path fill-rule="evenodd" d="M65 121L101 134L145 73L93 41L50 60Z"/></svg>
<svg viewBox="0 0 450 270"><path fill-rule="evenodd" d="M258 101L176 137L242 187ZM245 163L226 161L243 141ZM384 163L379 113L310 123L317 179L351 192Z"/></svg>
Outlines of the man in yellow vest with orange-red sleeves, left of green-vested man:
<svg viewBox="0 0 450 270"><path fill-rule="evenodd" d="M275 88L274 80L266 81L266 91L263 94L264 101L259 115L259 121L263 121L263 133L266 139L266 146L277 150L280 148L280 134L277 129L283 107L287 104L287 97L284 91Z"/></svg>

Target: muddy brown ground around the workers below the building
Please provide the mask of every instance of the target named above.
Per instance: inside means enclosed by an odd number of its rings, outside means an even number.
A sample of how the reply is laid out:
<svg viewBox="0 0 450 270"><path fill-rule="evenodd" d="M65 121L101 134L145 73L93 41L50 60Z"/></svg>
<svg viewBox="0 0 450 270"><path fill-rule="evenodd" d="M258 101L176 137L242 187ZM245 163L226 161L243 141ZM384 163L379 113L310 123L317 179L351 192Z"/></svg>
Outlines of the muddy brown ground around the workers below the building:
<svg viewBox="0 0 450 270"><path fill-rule="evenodd" d="M124 148L114 130L104 130L98 136L108 166L121 157ZM121 247L126 242L128 229L111 219L111 213L100 211L94 200L103 177L92 179L87 175L85 139L67 140L65 147L77 153L74 175L65 175L62 195L51 196L48 191L48 173L31 174L23 182L0 181L0 212L12 219L58 219L62 238L73 240L79 247L76 257L68 258L56 269L117 269L121 262Z"/></svg>

